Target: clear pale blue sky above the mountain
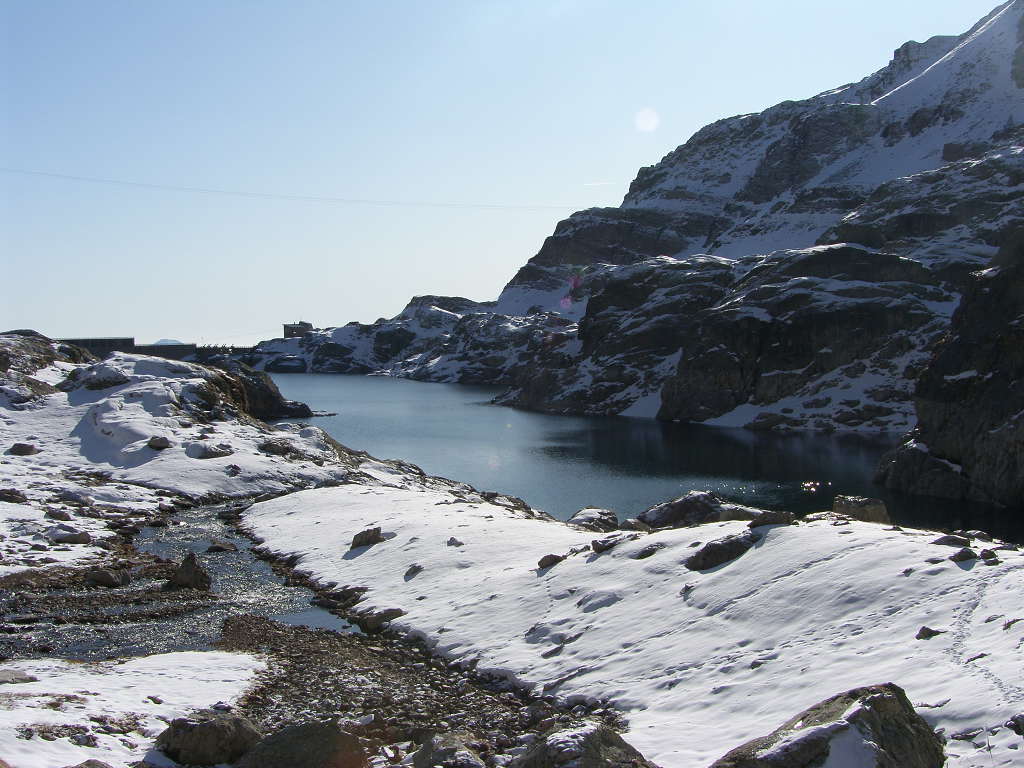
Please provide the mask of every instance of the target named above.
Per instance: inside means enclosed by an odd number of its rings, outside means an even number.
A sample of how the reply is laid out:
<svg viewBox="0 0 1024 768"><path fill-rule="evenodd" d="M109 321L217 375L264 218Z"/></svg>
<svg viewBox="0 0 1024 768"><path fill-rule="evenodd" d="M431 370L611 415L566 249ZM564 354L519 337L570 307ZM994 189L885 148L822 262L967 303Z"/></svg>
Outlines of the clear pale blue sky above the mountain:
<svg viewBox="0 0 1024 768"><path fill-rule="evenodd" d="M995 5L0 0L3 168L335 199L0 172L0 330L241 344L493 299L700 126Z"/></svg>

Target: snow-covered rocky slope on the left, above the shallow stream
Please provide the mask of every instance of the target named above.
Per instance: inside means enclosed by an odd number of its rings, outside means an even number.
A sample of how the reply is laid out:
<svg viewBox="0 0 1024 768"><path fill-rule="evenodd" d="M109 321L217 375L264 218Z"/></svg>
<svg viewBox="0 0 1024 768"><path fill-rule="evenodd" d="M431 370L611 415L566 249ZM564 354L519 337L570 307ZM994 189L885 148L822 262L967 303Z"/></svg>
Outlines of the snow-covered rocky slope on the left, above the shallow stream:
<svg viewBox="0 0 1024 768"><path fill-rule="evenodd" d="M25 490L33 501L48 501L47 490L60 488L95 493L69 478L69 471L76 470L108 472L113 480L128 483L130 493L125 494L103 485L97 501L124 506L122 501L133 500L129 506L139 510L155 509L159 498L138 486L194 498L209 494L241 497L323 484L347 474L344 467L330 462L335 455L318 429L284 425L268 430L226 414L209 423L197 421L190 407L204 407L211 376L199 366L115 354L78 368L82 381L123 383L56 392L28 408L0 411L0 446L23 441L40 449L34 456L2 457L5 486ZM54 374L44 369L41 375ZM167 437L171 446L164 451L148 447L146 442L155 435ZM290 440L303 458L261 452L259 445L269 438ZM231 453L194 458L202 444L223 444Z"/></svg>

